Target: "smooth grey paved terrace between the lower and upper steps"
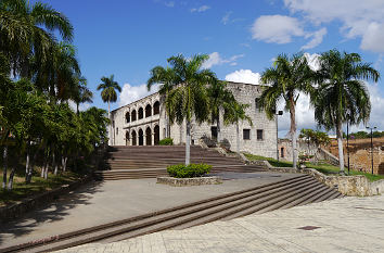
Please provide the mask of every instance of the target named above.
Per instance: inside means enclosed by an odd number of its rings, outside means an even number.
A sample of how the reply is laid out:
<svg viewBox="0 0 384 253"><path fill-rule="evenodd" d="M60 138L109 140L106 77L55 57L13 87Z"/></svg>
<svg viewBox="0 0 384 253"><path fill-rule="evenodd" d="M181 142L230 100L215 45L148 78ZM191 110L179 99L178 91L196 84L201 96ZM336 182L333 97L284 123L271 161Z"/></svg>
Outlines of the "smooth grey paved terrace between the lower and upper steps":
<svg viewBox="0 0 384 253"><path fill-rule="evenodd" d="M170 187L156 179L92 182L24 218L0 224L0 249L248 189L297 174L226 173L221 185ZM1 250L0 250L1 251Z"/></svg>

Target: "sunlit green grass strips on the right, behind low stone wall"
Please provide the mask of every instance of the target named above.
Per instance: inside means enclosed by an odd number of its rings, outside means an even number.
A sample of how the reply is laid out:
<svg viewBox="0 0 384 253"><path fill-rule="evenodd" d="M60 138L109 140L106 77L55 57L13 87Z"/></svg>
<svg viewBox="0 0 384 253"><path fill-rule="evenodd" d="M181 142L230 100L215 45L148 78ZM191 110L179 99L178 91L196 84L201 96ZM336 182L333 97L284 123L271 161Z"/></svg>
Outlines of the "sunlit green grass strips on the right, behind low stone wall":
<svg viewBox="0 0 384 253"><path fill-rule="evenodd" d="M249 154L249 153L244 153L245 157L247 157L249 161L257 161L257 160L266 160L268 161L272 166L274 167L292 167L292 162L281 162L281 161L277 161L276 159L271 159L271 157L265 157L261 155L254 155L254 154ZM324 175L338 175L340 168L337 166L333 166L331 164L328 163L318 163L318 164L312 164L312 163L306 163L306 166L309 168L315 168L316 170L324 174ZM347 173L347 168L345 169L345 172ZM372 175L369 173L363 173L363 172L358 172L358 170L350 170L350 175L355 176L355 175L362 175L366 176L368 178L368 180L370 181L375 181L375 180L380 180L380 179L384 179L384 175Z"/></svg>

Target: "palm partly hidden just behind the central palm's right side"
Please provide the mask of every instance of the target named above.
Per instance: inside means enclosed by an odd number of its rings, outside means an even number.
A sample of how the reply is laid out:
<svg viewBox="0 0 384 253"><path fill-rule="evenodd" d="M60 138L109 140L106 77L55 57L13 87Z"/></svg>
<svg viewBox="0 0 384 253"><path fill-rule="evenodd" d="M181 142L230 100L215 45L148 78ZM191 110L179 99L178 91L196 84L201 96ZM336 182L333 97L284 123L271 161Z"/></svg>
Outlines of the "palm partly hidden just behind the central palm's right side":
<svg viewBox="0 0 384 253"><path fill-rule="evenodd" d="M221 141L221 131L220 131L220 109L228 107L234 98L230 90L227 89L226 81L215 80L209 84L208 87L208 98L209 98L209 107L212 112L212 123L216 122L217 129L217 143Z"/></svg>

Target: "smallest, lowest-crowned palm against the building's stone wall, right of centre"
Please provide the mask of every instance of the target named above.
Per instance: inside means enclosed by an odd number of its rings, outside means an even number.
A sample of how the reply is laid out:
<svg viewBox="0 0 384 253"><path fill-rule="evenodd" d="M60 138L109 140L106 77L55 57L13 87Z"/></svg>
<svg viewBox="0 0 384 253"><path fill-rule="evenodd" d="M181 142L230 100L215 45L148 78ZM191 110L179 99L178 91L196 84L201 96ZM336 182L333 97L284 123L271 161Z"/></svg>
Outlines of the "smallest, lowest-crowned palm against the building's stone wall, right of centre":
<svg viewBox="0 0 384 253"><path fill-rule="evenodd" d="M236 153L240 155L240 132L239 122L247 121L253 126L252 119L246 115L245 110L249 107L249 104L242 104L235 100L231 100L231 103L225 107L225 124L236 124Z"/></svg>

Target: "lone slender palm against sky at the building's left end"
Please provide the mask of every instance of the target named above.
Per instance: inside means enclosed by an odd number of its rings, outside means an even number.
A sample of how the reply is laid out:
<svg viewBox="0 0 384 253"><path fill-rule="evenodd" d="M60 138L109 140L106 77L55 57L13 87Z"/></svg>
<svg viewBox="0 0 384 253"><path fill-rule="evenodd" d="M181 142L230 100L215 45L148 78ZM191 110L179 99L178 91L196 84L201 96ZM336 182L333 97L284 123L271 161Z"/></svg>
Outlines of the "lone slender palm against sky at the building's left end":
<svg viewBox="0 0 384 253"><path fill-rule="evenodd" d="M110 77L103 76L101 80L103 83L98 86L98 90L102 89L101 98L104 103L108 103L108 118L111 119L111 102L116 102L116 90L121 92L121 87L114 80L114 75L111 75ZM112 124L110 124L110 140L112 140ZM110 143L112 144L112 141Z"/></svg>

